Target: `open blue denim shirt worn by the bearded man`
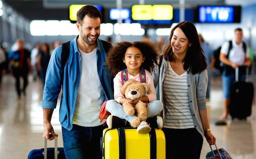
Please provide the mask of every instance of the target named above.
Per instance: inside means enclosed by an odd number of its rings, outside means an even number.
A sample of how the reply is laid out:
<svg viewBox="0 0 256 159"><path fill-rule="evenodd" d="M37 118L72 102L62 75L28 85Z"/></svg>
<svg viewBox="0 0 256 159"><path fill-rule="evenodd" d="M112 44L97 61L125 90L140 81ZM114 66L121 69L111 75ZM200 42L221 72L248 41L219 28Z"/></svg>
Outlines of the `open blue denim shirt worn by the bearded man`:
<svg viewBox="0 0 256 159"><path fill-rule="evenodd" d="M81 56L77 46L76 38L70 41L70 55L64 67L61 67L62 46L58 46L52 52L47 68L42 108L54 109L57 105L58 95L62 89L61 104L59 110L59 121L61 126L71 130L74 115L76 96L81 78ZM97 40L97 70L101 86L105 94L105 101L114 99L113 76L108 66L105 66L106 52L101 40ZM90 69L90 68L88 68ZM90 78L90 77L88 77Z"/></svg>

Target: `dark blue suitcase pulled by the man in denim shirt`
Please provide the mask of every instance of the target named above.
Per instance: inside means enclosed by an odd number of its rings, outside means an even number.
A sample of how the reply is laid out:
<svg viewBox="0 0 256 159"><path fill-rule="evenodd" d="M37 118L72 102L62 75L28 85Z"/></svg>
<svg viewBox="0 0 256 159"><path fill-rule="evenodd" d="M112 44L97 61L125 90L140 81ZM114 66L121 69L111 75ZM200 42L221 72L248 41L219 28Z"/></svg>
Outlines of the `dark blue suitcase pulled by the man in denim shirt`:
<svg viewBox="0 0 256 159"><path fill-rule="evenodd" d="M66 159L64 148L58 148L58 137L54 139L54 148L47 148L47 139L45 139L45 148L34 149L29 152L28 159ZM47 151L45 151L47 149Z"/></svg>

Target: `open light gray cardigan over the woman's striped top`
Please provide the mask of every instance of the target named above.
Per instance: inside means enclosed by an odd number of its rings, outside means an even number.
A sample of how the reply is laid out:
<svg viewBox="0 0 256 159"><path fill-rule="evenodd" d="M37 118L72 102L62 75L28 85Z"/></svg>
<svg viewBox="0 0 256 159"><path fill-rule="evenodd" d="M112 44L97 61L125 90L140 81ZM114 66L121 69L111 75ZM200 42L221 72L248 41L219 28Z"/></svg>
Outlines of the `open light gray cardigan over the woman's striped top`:
<svg viewBox="0 0 256 159"><path fill-rule="evenodd" d="M166 108L164 103L164 93L163 93L163 83L166 76L166 71L168 67L168 61L162 60L161 66L157 66L153 72L153 80L156 88L157 98L163 102L164 110L162 112L162 117L165 123L166 119ZM200 119L199 111L207 109L206 107L206 90L207 90L207 69L201 73L192 75L189 71L187 75L187 84L189 89L189 101L191 107L191 113L193 115L193 122L196 130L200 132L204 138L204 130L202 122Z"/></svg>

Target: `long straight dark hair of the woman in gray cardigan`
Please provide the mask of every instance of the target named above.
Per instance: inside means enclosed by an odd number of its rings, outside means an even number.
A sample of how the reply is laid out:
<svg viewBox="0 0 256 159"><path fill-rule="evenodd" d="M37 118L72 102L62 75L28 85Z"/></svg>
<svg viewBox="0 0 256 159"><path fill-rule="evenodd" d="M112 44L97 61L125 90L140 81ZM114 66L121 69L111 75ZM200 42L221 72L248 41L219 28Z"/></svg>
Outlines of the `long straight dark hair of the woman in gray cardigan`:
<svg viewBox="0 0 256 159"><path fill-rule="evenodd" d="M171 39L173 37L173 32L175 29L180 28L183 33L188 38L189 46L186 56L184 58L184 70L188 71L191 69L192 74L201 73L207 68L206 57L204 56L204 52L202 50L198 32L195 28L195 25L189 21L183 21L178 23L173 29L168 37L168 42L165 44L163 49L163 57L167 61L173 61L173 49L171 47Z"/></svg>

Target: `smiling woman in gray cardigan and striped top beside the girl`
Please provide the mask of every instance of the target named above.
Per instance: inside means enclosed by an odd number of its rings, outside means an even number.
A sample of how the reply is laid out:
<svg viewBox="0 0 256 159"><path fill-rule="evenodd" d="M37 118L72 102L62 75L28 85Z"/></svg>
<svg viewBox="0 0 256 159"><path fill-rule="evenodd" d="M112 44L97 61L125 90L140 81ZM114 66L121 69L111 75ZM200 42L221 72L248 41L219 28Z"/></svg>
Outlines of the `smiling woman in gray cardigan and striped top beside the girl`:
<svg viewBox="0 0 256 159"><path fill-rule="evenodd" d="M203 137L210 145L216 138L207 117L207 63L191 22L171 30L153 79L164 104L166 159L200 159Z"/></svg>

